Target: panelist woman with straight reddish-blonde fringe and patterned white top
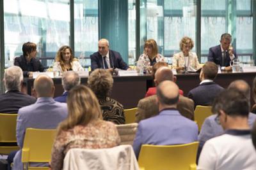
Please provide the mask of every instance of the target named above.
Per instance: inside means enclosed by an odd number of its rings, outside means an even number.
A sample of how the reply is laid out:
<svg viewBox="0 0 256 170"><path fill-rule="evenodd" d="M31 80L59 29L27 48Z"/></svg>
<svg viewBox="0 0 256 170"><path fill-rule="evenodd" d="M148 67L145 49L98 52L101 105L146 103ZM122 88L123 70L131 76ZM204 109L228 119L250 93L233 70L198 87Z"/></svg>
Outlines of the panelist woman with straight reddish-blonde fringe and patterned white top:
<svg viewBox="0 0 256 170"><path fill-rule="evenodd" d="M146 67L148 73L151 73L152 66L156 62L166 62L163 55L158 53L157 43L154 39L148 39L145 41L144 52L138 59L138 64L143 64Z"/></svg>

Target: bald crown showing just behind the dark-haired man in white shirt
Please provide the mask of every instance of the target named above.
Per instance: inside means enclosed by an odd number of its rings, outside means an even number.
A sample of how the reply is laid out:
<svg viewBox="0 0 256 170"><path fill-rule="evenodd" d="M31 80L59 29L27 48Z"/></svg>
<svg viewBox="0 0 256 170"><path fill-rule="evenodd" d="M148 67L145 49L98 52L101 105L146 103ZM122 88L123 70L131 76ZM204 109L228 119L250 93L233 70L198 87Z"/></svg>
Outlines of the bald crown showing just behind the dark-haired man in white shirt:
<svg viewBox="0 0 256 170"><path fill-rule="evenodd" d="M247 99L250 100L251 88L248 85L248 83L246 83L246 81L244 81L244 80L232 81L232 83L230 83L230 85L228 86L228 90L229 89L237 90L237 91L243 93L244 96L246 96Z"/></svg>

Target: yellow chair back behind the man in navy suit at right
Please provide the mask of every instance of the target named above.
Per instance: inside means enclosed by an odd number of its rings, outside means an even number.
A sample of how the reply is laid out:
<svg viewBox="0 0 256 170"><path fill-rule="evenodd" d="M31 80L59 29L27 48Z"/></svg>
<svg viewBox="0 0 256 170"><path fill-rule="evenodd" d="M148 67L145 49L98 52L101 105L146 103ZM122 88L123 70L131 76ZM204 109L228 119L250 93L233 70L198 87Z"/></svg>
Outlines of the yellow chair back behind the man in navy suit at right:
<svg viewBox="0 0 256 170"><path fill-rule="evenodd" d="M204 123L205 118L212 115L212 106L196 106L194 111L195 122L198 125L198 130L201 130L202 124Z"/></svg>

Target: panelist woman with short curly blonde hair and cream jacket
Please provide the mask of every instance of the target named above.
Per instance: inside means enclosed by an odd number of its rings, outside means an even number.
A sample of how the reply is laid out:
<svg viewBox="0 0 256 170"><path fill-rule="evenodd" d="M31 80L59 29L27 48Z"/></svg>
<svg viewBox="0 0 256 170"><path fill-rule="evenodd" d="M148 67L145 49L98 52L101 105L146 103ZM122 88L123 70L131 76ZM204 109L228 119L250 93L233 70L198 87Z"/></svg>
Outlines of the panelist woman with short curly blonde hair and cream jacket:
<svg viewBox="0 0 256 170"><path fill-rule="evenodd" d="M190 50L193 48L194 42L189 37L184 37L180 40L181 52L173 54L172 66L177 69L177 72L196 71L200 69L200 64L197 55Z"/></svg>

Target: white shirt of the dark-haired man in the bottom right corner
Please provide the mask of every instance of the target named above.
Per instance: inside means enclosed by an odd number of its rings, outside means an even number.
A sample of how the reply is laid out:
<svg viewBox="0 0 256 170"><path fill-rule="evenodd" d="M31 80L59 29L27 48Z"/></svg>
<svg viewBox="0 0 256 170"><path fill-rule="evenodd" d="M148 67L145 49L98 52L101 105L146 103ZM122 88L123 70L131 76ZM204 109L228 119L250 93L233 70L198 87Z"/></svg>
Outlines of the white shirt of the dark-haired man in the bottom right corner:
<svg viewBox="0 0 256 170"><path fill-rule="evenodd" d="M198 170L255 170L256 151L250 134L223 134L206 141L198 162Z"/></svg>

